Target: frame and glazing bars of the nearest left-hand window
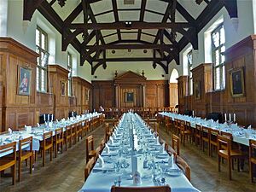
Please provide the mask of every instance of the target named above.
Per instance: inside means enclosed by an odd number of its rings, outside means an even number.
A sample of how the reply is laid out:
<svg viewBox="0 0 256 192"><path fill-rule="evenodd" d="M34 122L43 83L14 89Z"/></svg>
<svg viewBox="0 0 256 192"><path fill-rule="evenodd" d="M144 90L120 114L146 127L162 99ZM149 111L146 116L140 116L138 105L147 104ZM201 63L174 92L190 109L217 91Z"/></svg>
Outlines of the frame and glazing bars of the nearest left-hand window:
<svg viewBox="0 0 256 192"><path fill-rule="evenodd" d="M47 92L47 83L48 83L48 59L49 59L49 52L48 52L48 34L47 32L44 32L42 28L37 26L36 31L39 32L39 45L37 44L37 35L36 35L36 51L39 54L38 56L38 61L37 61L37 91L38 92ZM42 35L44 35L44 49L43 49L43 42L42 42ZM43 61L42 61L42 53L44 56L46 56L46 61L45 65L43 66ZM42 76L44 72L44 84L42 83ZM43 89L44 87L44 89Z"/></svg>

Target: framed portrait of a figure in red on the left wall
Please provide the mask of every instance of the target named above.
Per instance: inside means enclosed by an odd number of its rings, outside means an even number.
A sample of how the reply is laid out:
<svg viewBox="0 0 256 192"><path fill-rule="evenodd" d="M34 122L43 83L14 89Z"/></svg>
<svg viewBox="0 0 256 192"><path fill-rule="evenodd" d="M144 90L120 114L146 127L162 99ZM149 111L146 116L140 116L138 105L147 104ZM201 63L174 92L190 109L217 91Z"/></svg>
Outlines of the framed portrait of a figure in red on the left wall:
<svg viewBox="0 0 256 192"><path fill-rule="evenodd" d="M18 95L30 96L32 70L28 67L18 67Z"/></svg>

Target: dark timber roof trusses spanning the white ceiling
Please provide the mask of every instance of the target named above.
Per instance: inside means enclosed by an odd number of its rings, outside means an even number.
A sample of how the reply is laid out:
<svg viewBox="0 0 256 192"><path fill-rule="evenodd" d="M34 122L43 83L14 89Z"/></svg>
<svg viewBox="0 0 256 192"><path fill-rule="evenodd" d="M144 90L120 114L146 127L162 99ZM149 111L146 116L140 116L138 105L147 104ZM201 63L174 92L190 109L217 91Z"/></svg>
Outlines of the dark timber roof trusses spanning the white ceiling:
<svg viewBox="0 0 256 192"><path fill-rule="evenodd" d="M70 1L70 0L69 0ZM101 2L102 0L80 0L80 3L67 15L65 20L53 9L55 3L59 3L61 8L65 8L67 0L24 0L23 20L31 20L36 9L55 26L56 30L61 33L61 49L65 51L69 44L72 44L80 53L80 65L84 65L84 61L88 61L91 66L91 74L96 72L100 66L107 67L107 62L114 61L152 61L153 67L159 65L165 73L168 73L168 65L174 60L179 64L179 52L187 45L192 44L194 49L198 49L198 32L207 25L214 15L220 9L225 7L230 17L237 17L236 0L195 0L198 6L206 3L206 8L196 19L189 14L189 11L183 8L183 5L177 0L159 0L167 3L166 12L160 13L152 9L147 9L148 0L141 0L140 8L125 9L119 8L117 0L110 0L112 3L111 10L94 14L91 9L91 3ZM140 11L139 19L132 21L130 25L119 20L119 11ZM160 15L161 22L146 22L146 12ZM176 13L183 16L186 22L177 22ZM74 23L73 21L83 14L82 23ZM101 23L97 22L96 17L113 13L114 22ZM169 21L168 21L169 20ZM156 34L143 32L143 30L154 29ZM102 35L104 30L115 30L107 35ZM126 31L125 31L126 30ZM135 33L129 30L137 30L136 39L123 39L122 34ZM125 31L125 32L124 32ZM79 41L78 36L82 34L83 41ZM182 38L177 40L177 34ZM118 40L105 43L105 38L117 35ZM152 43L144 41L142 36L154 38ZM171 44L166 44L164 39L168 39ZM90 42L95 40L94 44ZM152 49L152 57L145 58L108 58L108 49Z"/></svg>

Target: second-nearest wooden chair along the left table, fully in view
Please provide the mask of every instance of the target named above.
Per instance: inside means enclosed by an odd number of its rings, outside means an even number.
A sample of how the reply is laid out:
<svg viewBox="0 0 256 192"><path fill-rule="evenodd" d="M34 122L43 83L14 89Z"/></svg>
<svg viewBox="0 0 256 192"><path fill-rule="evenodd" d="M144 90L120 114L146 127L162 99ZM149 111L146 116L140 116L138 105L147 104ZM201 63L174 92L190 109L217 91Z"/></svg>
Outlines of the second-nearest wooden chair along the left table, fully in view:
<svg viewBox="0 0 256 192"><path fill-rule="evenodd" d="M22 161L29 159L29 171L32 174L32 166L33 166L33 151L32 151L32 137L28 137L25 139L20 139L19 141L19 152L17 154L17 160L19 165L18 171L18 181L21 181L21 163ZM26 148L24 147L26 146ZM24 148L24 149L22 149Z"/></svg>

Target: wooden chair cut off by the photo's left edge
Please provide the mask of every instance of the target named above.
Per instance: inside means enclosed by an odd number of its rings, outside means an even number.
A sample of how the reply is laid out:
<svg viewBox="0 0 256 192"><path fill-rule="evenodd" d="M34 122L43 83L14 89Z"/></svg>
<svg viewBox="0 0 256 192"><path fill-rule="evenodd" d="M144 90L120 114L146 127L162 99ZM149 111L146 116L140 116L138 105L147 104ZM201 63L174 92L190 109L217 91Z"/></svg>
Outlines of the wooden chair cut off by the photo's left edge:
<svg viewBox="0 0 256 192"><path fill-rule="evenodd" d="M0 172L11 168L11 175L13 177L13 185L15 185L16 182L16 143L9 143L5 145L0 146L0 156L1 154L5 154L9 151L12 151L11 154L8 155L8 157L1 157L0 159Z"/></svg>

